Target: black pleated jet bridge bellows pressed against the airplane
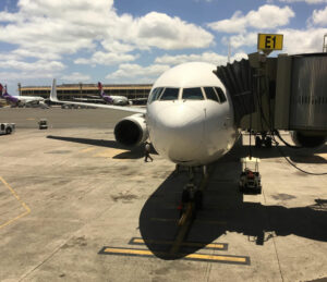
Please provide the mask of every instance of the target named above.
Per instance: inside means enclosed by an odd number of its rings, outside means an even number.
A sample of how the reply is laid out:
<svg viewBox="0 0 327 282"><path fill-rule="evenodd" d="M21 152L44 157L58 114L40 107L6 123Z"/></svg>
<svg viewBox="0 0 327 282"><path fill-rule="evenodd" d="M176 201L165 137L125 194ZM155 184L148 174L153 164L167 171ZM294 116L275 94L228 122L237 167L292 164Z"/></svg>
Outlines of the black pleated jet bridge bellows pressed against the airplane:
<svg viewBox="0 0 327 282"><path fill-rule="evenodd" d="M234 111L235 123L239 124L242 117L255 111L253 95L253 70L249 60L241 60L226 66L217 66L214 73L223 83L230 94Z"/></svg>

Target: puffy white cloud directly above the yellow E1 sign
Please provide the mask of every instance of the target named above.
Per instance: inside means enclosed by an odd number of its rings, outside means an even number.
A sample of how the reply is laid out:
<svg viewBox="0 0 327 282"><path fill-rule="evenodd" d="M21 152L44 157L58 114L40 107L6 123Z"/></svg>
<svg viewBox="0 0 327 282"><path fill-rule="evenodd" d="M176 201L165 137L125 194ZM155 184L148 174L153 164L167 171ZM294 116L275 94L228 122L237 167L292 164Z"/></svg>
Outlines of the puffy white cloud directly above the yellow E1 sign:
<svg viewBox="0 0 327 282"><path fill-rule="evenodd" d="M221 33L244 33L246 28L271 29L287 25L295 14L289 7L265 4L243 15L237 11L231 19L209 23L208 27Z"/></svg>

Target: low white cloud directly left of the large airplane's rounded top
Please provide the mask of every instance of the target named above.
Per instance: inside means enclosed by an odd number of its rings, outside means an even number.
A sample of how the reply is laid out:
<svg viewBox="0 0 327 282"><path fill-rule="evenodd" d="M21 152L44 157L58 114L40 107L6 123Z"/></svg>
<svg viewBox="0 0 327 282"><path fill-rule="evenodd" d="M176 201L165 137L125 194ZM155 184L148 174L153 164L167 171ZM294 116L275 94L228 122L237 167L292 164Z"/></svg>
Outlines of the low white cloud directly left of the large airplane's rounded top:
<svg viewBox="0 0 327 282"><path fill-rule="evenodd" d="M169 69L167 64L153 64L149 66L142 66L140 64L120 64L119 70L110 73L106 76L108 79L122 79L129 78L129 81L133 81L138 77L143 77L142 82L153 82L159 75L161 75L165 71ZM140 81L141 82L141 81Z"/></svg>

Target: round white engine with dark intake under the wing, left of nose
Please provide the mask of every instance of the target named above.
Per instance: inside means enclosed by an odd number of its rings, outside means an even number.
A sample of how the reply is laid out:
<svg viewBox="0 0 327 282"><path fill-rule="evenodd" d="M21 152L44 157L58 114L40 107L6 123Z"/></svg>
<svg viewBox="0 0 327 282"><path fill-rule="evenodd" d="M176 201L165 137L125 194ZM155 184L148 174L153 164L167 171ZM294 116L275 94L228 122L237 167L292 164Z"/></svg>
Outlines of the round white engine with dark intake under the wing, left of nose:
<svg viewBox="0 0 327 282"><path fill-rule="evenodd" d="M126 147L135 147L144 143L148 137L148 132L144 115L136 113L122 119L114 126L116 140Z"/></svg>

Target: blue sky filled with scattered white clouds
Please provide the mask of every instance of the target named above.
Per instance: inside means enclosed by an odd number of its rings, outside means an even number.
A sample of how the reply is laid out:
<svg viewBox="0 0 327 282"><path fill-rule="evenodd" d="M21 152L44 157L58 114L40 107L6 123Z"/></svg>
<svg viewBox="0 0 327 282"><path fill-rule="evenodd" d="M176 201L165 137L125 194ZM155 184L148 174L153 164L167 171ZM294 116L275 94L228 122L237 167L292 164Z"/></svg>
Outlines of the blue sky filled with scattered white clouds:
<svg viewBox="0 0 327 282"><path fill-rule="evenodd" d="M178 63L226 64L229 42L246 58L257 33L283 34L283 52L322 51L327 0L1 0L0 77L12 94L52 77L153 83Z"/></svg>

